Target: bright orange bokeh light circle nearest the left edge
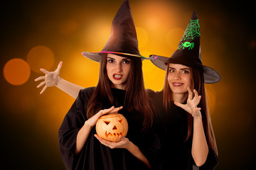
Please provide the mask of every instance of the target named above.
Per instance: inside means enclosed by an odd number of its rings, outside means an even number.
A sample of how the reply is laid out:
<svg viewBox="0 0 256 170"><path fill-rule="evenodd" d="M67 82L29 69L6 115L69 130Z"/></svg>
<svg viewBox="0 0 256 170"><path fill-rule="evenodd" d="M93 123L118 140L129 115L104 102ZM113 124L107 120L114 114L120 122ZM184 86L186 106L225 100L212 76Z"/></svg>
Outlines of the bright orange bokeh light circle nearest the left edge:
<svg viewBox="0 0 256 170"><path fill-rule="evenodd" d="M28 81L31 69L28 63L22 59L14 58L4 65L4 78L9 84L21 85Z"/></svg>

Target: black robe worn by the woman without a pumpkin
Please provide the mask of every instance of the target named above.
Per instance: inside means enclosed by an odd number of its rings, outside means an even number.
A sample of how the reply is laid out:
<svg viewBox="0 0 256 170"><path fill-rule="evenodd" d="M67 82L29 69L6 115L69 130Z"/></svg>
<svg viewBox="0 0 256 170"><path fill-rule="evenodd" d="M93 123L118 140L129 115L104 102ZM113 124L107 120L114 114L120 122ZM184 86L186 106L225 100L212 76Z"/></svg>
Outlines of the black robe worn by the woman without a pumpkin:
<svg viewBox="0 0 256 170"><path fill-rule="evenodd" d="M188 132L187 113L171 103L170 111L166 114L163 106L163 93L149 90L149 97L156 106L154 130L161 142L161 156L159 157L159 169L198 169L191 155L192 135L186 141ZM218 165L218 157L209 147L208 158L199 169L215 169Z"/></svg>

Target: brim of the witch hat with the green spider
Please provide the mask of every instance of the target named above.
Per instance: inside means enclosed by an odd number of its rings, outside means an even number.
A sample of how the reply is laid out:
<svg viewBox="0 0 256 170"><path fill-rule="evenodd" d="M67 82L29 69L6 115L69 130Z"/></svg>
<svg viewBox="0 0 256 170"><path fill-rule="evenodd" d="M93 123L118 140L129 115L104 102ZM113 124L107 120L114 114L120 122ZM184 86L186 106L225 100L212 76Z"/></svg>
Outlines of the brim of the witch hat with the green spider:
<svg viewBox="0 0 256 170"><path fill-rule="evenodd" d="M149 59L151 62L160 69L164 69L166 71L167 63L169 57L163 57L159 55L150 55ZM203 65L203 78L206 84L214 84L220 81L220 74L216 72L214 69Z"/></svg>

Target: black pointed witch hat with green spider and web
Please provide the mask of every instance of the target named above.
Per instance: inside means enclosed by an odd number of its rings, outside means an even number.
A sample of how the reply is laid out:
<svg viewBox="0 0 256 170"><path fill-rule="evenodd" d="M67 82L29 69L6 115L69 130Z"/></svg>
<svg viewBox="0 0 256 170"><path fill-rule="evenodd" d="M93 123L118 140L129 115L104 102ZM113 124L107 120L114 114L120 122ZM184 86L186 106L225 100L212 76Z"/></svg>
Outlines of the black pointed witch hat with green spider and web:
<svg viewBox="0 0 256 170"><path fill-rule="evenodd" d="M188 67L194 67L203 71L203 77L206 84L213 84L220 81L220 74L214 69L204 66L201 60L200 47L200 26L196 12L194 11L191 20L178 43L178 49L171 57L163 57L159 55L150 55L151 62L156 67L166 70L168 63L183 64Z"/></svg>

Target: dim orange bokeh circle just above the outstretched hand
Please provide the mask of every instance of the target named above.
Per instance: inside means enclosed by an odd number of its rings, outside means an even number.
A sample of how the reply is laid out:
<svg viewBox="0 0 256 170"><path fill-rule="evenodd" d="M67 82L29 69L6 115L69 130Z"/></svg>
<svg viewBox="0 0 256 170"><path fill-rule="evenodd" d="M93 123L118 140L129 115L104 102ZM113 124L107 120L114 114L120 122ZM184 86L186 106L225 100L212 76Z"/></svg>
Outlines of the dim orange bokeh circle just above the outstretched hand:
<svg viewBox="0 0 256 170"><path fill-rule="evenodd" d="M41 68L50 70L53 67L54 55L50 48L38 45L28 52L27 61L34 72L41 73Z"/></svg>

